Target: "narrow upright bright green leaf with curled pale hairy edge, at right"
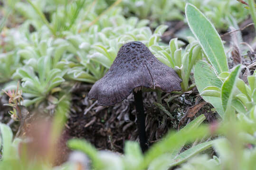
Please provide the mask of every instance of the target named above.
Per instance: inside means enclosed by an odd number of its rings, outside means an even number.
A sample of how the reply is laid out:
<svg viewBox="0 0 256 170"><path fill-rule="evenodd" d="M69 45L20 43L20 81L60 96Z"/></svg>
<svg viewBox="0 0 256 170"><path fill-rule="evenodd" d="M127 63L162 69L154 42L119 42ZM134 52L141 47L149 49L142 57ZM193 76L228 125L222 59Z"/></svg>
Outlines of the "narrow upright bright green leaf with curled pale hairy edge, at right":
<svg viewBox="0 0 256 170"><path fill-rule="evenodd" d="M223 82L221 87L221 103L224 111L226 111L227 108L231 106L240 68L241 65L238 65L236 68L234 68L228 78Z"/></svg>

